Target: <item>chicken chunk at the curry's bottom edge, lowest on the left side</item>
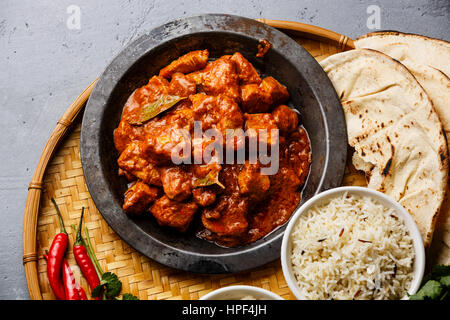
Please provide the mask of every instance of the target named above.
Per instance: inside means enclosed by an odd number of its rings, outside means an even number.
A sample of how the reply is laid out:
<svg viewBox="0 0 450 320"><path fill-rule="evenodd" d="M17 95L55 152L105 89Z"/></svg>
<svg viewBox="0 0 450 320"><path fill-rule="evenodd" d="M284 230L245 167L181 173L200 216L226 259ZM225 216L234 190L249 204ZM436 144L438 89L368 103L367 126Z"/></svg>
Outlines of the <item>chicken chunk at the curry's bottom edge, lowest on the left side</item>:
<svg viewBox="0 0 450 320"><path fill-rule="evenodd" d="M178 202L164 195L155 201L150 212L160 225L185 232L194 218L197 208L198 206L193 202Z"/></svg>

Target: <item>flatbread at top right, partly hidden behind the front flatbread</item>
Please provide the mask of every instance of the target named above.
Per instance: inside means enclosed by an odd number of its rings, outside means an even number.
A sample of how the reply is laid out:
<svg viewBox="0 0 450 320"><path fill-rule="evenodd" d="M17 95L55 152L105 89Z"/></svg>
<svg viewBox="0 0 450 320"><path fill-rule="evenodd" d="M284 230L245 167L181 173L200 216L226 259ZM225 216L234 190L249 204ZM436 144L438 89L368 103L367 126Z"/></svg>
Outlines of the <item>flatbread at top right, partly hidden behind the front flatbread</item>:
<svg viewBox="0 0 450 320"><path fill-rule="evenodd" d="M399 32L369 33L355 41L357 48L381 51L400 61L425 89L450 137L450 43ZM450 140L448 147L450 149ZM450 203L442 205L430 256L431 263L450 264Z"/></svg>

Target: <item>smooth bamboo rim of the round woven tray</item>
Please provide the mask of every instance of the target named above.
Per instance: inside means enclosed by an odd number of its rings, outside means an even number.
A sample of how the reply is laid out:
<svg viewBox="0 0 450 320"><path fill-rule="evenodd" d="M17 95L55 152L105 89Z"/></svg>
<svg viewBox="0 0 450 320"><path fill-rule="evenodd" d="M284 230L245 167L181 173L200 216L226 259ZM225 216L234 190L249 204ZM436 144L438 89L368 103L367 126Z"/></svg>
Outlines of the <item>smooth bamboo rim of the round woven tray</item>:
<svg viewBox="0 0 450 320"><path fill-rule="evenodd" d="M319 39L337 45L341 50L353 49L353 40L345 35L341 35L331 30L318 26L304 24L294 21L256 19L277 29L299 32L302 37ZM42 151L39 162L33 174L33 178L28 186L28 195L24 210L23 222L23 265L27 280L28 292L32 300L42 300L42 293L39 287L39 277L37 270L37 221L40 208L40 200L43 192L43 178L51 158L57 150L60 142L64 140L70 131L71 125L77 120L81 110L83 110L97 79L94 80L70 105L62 117L57 121L50 138L47 140Z"/></svg>

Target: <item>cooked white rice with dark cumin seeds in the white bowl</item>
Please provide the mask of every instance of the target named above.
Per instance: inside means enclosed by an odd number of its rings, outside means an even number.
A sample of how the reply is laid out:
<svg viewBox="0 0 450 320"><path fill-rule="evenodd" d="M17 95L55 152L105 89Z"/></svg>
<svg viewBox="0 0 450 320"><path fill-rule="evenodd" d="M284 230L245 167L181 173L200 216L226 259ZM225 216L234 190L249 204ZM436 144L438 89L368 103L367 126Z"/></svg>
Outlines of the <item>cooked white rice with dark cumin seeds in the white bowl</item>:
<svg viewBox="0 0 450 320"><path fill-rule="evenodd" d="M306 299L400 299L413 278L413 240L393 209L345 193L302 214L292 269Z"/></svg>

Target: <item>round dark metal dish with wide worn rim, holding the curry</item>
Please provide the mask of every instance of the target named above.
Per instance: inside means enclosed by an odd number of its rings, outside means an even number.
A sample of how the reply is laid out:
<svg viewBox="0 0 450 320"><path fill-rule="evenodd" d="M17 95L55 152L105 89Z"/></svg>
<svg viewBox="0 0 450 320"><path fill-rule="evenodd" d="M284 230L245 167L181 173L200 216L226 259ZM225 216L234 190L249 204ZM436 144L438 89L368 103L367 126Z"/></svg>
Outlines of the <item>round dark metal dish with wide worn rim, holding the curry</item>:
<svg viewBox="0 0 450 320"><path fill-rule="evenodd" d="M255 58L259 40L273 48ZM172 21L128 45L106 68L87 104L81 131L81 158L89 192L105 220L129 245L167 266L199 273L248 270L280 257L285 227L238 248L222 248L160 227L150 215L130 218L122 211L126 182L117 175L113 131L123 105L136 88L173 59L207 48L210 56L241 52L265 75L288 87L290 104L301 113L312 147L312 164L302 202L340 185L345 169L347 133L335 90L314 58L282 32L260 22L208 14Z"/></svg>

